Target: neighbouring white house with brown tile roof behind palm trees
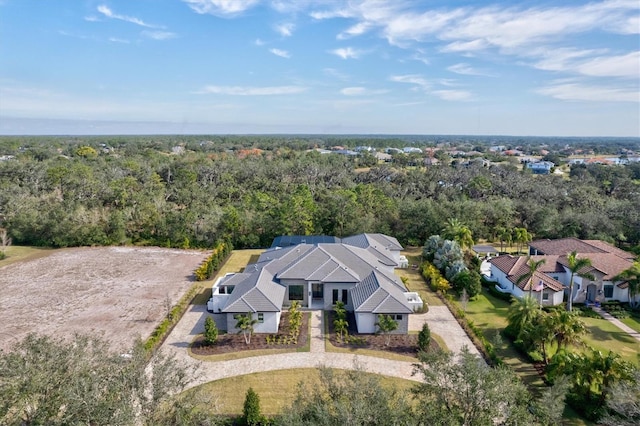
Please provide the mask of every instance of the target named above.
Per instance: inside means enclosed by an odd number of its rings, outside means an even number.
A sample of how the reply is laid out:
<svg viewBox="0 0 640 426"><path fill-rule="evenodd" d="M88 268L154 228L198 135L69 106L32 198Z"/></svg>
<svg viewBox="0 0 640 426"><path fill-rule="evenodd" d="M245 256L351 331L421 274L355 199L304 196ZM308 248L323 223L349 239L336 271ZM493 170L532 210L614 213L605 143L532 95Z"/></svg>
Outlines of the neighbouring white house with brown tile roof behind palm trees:
<svg viewBox="0 0 640 426"><path fill-rule="evenodd" d="M579 272L590 274L593 279L574 275L573 294L569 295L571 272L567 257L574 251L578 258L584 257L591 261L590 267ZM491 267L489 275L485 277L497 283L496 289L515 297L527 294L531 282L534 294L543 305L559 305L569 297L574 303L629 301L628 283L615 280L615 277L633 265L635 256L632 253L604 241L562 238L533 241L529 244L529 254L535 261L545 260L533 280L518 284L518 279L529 270L527 257L511 255L488 260ZM540 294L540 291L543 293Z"/></svg>

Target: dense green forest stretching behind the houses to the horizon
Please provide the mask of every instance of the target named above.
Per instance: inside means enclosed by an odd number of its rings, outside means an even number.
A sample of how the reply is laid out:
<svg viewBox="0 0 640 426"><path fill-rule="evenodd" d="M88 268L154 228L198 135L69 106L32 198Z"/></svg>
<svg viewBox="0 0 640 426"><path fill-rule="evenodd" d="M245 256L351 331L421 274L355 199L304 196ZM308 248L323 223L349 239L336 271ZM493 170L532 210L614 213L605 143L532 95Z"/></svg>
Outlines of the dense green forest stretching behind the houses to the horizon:
<svg viewBox="0 0 640 426"><path fill-rule="evenodd" d="M14 244L266 247L282 234L393 235L423 245L455 218L477 240L603 239L640 245L640 162L573 165L534 175L493 144L562 160L569 144L595 153L640 150L635 139L473 137L104 136L0 138L0 226ZM322 154L342 146L457 147L394 154ZM423 152L429 152L423 149ZM433 154L434 150L431 151ZM564 157L566 158L566 156ZM486 160L491 160L486 161Z"/></svg>

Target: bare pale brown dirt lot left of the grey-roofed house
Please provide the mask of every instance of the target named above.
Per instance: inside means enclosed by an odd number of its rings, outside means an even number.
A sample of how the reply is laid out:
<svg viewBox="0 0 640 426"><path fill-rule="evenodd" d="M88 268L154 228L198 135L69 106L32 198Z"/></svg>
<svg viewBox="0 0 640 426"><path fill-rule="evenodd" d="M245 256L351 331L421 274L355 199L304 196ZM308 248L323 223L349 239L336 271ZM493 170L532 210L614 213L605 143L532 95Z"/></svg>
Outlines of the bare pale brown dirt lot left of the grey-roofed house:
<svg viewBox="0 0 640 426"><path fill-rule="evenodd" d="M155 247L51 251L0 266L0 349L30 332L146 338L192 284L205 252Z"/></svg>

